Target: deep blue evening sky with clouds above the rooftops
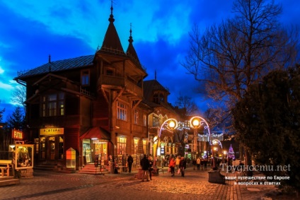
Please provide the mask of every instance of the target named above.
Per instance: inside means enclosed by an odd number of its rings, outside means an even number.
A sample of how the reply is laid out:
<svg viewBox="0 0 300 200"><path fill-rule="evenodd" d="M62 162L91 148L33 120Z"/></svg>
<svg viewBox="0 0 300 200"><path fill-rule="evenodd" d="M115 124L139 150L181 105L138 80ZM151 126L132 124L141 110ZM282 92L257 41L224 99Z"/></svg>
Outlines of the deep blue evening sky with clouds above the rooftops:
<svg viewBox="0 0 300 200"><path fill-rule="evenodd" d="M282 0L284 25L300 25L300 1ZM207 110L207 100L195 93L197 81L180 65L189 47L188 32L197 23L201 30L231 16L233 0L115 0L115 28L126 51L130 23L134 48L149 74L170 90L175 105L187 95ZM96 52L108 28L110 0L0 0L0 109L6 116L11 103L13 78L51 60L70 59ZM200 113L200 114L201 114Z"/></svg>

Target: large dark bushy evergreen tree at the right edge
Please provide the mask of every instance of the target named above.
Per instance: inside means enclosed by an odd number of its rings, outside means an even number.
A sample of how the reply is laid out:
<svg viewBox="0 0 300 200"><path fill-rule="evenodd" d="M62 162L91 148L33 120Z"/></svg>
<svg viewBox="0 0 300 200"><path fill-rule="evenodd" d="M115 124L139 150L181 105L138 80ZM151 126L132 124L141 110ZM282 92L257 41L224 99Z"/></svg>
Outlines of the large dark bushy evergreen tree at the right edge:
<svg viewBox="0 0 300 200"><path fill-rule="evenodd" d="M267 176L285 176L288 184L300 190L300 67L273 71L233 109L234 127L243 134L256 165L274 167L262 170ZM282 169L282 166L287 168Z"/></svg>

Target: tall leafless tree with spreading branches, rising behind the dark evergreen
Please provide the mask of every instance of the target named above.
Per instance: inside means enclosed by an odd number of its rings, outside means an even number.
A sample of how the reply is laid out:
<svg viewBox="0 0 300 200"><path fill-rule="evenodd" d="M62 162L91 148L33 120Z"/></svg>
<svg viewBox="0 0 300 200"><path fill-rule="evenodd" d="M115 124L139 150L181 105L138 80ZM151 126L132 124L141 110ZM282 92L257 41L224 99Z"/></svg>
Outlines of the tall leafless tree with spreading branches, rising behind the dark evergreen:
<svg viewBox="0 0 300 200"><path fill-rule="evenodd" d="M296 63L299 37L280 26L281 12L274 1L236 0L233 18L212 25L203 35L197 25L192 28L190 51L181 64L205 83L209 98L224 105L223 119L231 118L231 108L251 83Z"/></svg>

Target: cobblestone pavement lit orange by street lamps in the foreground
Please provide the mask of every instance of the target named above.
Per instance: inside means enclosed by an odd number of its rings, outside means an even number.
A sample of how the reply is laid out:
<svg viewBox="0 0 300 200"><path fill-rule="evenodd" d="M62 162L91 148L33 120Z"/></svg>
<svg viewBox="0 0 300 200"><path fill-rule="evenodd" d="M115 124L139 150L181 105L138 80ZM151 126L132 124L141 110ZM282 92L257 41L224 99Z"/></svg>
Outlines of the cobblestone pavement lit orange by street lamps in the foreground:
<svg viewBox="0 0 300 200"><path fill-rule="evenodd" d="M185 177L165 172L142 182L137 171L122 174L86 175L35 170L20 184L0 187L0 199L270 199L275 186L208 182L207 171L188 167Z"/></svg>

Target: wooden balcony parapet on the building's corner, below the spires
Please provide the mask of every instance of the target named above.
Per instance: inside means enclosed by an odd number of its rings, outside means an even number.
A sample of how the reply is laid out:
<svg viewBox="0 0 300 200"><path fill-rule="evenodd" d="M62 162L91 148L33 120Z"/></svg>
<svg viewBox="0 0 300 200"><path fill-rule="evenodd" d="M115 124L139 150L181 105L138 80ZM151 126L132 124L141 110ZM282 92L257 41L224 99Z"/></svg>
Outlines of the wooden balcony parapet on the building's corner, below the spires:
<svg viewBox="0 0 300 200"><path fill-rule="evenodd" d="M108 88L122 90L125 88L125 93L130 93L138 97L143 96L143 90L132 81L118 76L101 75L98 79L98 88Z"/></svg>

